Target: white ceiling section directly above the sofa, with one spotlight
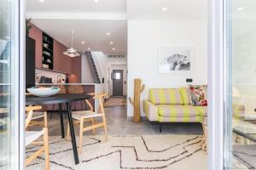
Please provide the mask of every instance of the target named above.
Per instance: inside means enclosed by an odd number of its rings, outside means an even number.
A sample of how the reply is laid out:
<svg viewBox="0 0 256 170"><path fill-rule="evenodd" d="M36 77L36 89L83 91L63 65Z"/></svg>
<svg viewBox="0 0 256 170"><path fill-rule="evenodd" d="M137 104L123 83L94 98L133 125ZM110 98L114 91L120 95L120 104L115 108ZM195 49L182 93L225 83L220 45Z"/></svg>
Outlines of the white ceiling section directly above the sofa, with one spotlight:
<svg viewBox="0 0 256 170"><path fill-rule="evenodd" d="M126 5L129 20L207 20L207 0L127 0Z"/></svg>

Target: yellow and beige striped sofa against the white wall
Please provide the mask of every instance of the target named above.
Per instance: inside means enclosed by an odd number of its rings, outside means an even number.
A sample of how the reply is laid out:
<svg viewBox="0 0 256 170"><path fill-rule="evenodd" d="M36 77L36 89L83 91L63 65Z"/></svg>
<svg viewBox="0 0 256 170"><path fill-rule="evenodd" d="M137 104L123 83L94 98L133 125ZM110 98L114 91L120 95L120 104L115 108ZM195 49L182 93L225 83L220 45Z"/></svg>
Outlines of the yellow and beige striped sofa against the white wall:
<svg viewBox="0 0 256 170"><path fill-rule="evenodd" d="M152 122L202 122L207 106L192 106L189 88L151 88L143 111Z"/></svg>

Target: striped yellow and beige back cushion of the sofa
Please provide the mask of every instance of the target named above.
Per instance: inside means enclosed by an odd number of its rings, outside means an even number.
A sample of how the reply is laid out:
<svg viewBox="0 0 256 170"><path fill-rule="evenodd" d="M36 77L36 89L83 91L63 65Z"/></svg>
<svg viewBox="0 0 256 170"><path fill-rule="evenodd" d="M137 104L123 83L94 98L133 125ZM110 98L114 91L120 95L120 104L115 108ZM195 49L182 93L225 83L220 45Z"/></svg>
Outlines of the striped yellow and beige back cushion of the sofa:
<svg viewBox="0 0 256 170"><path fill-rule="evenodd" d="M151 88L149 101L154 105L183 105L179 88Z"/></svg>

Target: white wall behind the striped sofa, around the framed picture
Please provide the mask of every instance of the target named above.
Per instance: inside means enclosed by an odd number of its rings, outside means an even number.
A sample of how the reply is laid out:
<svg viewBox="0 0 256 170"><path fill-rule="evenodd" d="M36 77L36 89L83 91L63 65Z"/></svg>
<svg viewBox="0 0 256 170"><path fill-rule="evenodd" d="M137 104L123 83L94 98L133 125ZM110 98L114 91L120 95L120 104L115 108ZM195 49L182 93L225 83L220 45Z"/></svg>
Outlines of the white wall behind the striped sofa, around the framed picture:
<svg viewBox="0 0 256 170"><path fill-rule="evenodd" d="M191 74L158 74L157 48L168 47L195 49ZM128 97L133 97L134 78L146 85L142 100L148 99L149 88L183 87L189 77L194 84L207 84L207 21L129 20L127 64ZM130 104L127 116L133 116Z"/></svg>

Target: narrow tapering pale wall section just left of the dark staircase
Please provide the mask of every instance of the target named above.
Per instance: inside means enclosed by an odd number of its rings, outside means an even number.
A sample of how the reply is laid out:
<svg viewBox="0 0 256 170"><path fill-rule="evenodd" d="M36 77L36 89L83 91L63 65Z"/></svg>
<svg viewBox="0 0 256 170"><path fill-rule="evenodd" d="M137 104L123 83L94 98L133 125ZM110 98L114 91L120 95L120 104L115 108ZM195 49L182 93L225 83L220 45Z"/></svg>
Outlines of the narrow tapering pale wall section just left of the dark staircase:
<svg viewBox="0 0 256 170"><path fill-rule="evenodd" d="M90 66L88 63L88 59L86 59L86 55L82 54L82 62L81 62L81 82L82 83L94 83L94 78L90 71Z"/></svg>

